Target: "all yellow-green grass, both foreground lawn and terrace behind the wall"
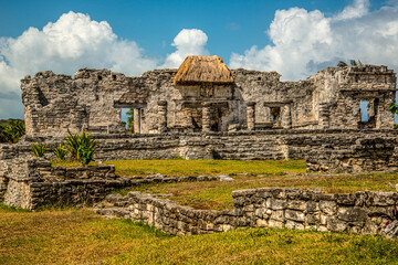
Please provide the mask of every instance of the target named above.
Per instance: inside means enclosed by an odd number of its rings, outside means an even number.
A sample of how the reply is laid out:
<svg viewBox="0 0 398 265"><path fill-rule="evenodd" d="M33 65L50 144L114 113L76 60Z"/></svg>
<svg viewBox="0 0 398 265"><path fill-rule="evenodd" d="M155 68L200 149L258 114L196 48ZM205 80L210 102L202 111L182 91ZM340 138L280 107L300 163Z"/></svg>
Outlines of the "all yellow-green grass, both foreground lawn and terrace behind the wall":
<svg viewBox="0 0 398 265"><path fill-rule="evenodd" d="M398 174L307 176L303 174L305 163L301 160L108 163L115 165L117 174L124 177L222 173L234 178L232 182L158 183L129 189L169 193L172 194L169 199L198 209L231 209L231 193L240 189L301 187L325 192L392 191L398 183ZM106 220L85 209L28 212L0 204L0 264L398 264L397 256L397 242L380 236L274 229L170 236L127 220Z"/></svg>

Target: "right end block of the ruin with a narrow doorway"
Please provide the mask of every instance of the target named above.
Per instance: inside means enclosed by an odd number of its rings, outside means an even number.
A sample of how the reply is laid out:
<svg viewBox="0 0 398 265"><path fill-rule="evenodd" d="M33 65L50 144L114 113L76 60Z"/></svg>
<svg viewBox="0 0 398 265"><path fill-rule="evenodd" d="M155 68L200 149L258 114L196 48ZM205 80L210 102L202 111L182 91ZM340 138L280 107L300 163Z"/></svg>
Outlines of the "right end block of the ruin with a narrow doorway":
<svg viewBox="0 0 398 265"><path fill-rule="evenodd" d="M395 100L396 74L387 66L328 67L308 77L314 82L314 106L323 128L394 128L389 104ZM369 103L367 123L360 123L362 100ZM365 110L366 112L366 110Z"/></svg>

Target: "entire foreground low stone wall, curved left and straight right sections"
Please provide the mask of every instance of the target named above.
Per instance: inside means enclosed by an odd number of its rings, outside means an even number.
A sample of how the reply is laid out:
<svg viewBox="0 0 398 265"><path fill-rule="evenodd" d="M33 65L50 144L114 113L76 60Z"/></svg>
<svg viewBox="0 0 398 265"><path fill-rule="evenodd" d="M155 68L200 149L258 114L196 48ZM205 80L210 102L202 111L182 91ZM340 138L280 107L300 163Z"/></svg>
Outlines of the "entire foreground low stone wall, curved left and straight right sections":
<svg viewBox="0 0 398 265"><path fill-rule="evenodd" d="M154 194L111 194L94 209L143 222L174 235L206 234L235 227L286 227L380 234L398 202L395 192L323 194L304 189L261 188L233 191L233 210L210 211L180 206Z"/></svg>

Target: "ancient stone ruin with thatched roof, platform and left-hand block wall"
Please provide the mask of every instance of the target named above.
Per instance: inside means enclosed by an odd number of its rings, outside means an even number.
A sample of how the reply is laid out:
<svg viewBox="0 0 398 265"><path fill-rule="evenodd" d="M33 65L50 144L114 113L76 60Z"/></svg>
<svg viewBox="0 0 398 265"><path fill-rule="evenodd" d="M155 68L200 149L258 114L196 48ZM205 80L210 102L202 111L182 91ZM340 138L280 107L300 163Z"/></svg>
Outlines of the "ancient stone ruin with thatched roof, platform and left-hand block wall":
<svg viewBox="0 0 398 265"><path fill-rule="evenodd" d="M138 77L108 70L83 68L73 78L39 72L25 76L21 88L27 136L0 145L0 200L10 205L92 204L132 184L112 167L92 172L32 160L32 142L51 149L67 130L91 132L98 161L305 159L310 171L325 172L398 166L389 112L396 74L386 66L328 67L305 81L281 82L275 72L229 70L218 56L188 56L178 70ZM134 134L126 134L122 108L134 109Z"/></svg>

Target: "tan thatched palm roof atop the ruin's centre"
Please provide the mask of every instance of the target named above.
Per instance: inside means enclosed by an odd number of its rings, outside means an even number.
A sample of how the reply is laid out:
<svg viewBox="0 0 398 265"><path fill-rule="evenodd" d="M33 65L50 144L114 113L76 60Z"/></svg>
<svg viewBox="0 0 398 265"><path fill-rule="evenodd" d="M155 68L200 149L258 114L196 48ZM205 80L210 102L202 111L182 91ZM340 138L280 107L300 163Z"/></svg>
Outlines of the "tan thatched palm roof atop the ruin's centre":
<svg viewBox="0 0 398 265"><path fill-rule="evenodd" d="M213 56L187 56L179 66L174 80L177 85L193 85L202 83L231 84L232 72L222 62L222 59Z"/></svg>

